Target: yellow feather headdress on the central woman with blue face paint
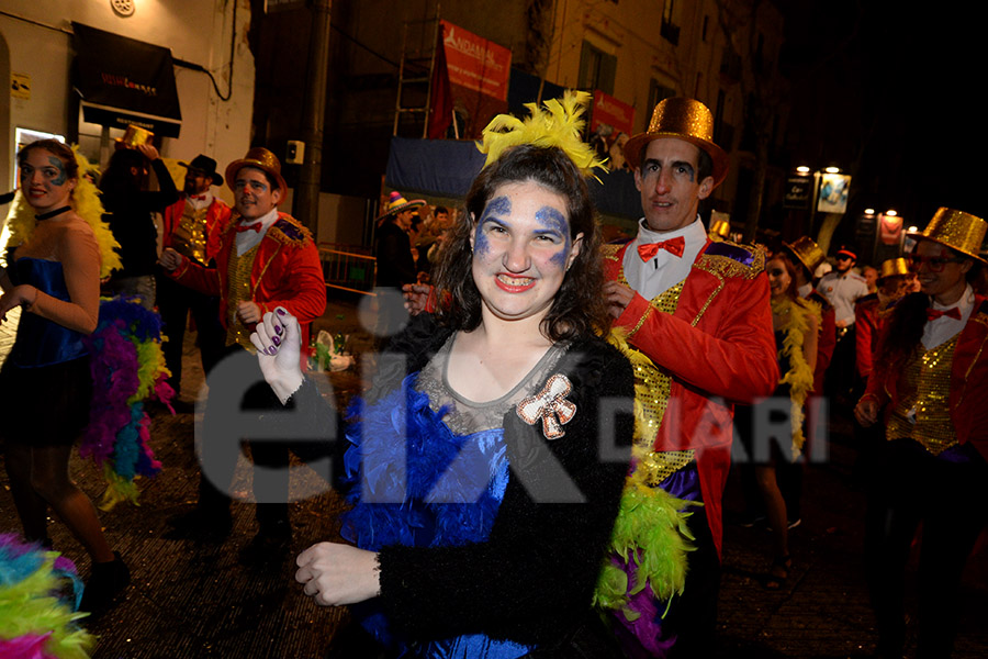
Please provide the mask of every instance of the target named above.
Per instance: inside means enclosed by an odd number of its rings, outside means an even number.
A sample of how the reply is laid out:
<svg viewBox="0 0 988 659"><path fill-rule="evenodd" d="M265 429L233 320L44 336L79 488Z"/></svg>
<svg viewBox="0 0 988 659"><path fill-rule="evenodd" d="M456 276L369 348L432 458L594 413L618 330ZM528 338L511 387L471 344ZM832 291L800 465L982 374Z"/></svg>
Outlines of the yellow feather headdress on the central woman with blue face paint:
<svg viewBox="0 0 988 659"><path fill-rule="evenodd" d="M561 148L583 176L597 178L594 168L607 171L604 160L598 159L594 149L580 137L586 123L583 120L584 107L590 100L588 92L566 90L562 99L546 101L544 110L536 103L525 103L531 116L524 121L510 114L498 114L484 129L483 141L476 145L482 154L487 155L484 167L513 146L534 144Z"/></svg>

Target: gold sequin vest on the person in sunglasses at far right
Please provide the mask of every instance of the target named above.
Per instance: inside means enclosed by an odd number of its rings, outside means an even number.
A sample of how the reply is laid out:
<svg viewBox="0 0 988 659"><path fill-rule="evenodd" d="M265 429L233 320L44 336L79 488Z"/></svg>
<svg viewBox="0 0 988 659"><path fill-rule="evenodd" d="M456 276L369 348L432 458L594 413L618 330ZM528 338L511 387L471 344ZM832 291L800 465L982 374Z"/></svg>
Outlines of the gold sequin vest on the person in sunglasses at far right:
<svg viewBox="0 0 988 659"><path fill-rule="evenodd" d="M897 384L901 395L888 418L887 439L911 437L934 456L957 444L950 398L958 336L929 350L920 345L906 360Z"/></svg>

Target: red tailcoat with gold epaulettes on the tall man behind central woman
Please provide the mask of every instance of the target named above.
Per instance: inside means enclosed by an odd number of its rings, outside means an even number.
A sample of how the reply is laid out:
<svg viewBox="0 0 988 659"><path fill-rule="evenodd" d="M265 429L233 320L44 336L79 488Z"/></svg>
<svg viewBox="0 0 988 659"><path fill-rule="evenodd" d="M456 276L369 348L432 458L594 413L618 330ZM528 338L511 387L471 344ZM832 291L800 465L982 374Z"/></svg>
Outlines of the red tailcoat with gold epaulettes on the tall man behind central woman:
<svg viewBox="0 0 988 659"><path fill-rule="evenodd" d="M604 272L627 286L626 245L607 245ZM615 321L631 346L670 376L654 450L695 450L700 490L720 550L720 500L731 463L733 402L771 395L778 384L764 255L707 241L673 313L636 293Z"/></svg>

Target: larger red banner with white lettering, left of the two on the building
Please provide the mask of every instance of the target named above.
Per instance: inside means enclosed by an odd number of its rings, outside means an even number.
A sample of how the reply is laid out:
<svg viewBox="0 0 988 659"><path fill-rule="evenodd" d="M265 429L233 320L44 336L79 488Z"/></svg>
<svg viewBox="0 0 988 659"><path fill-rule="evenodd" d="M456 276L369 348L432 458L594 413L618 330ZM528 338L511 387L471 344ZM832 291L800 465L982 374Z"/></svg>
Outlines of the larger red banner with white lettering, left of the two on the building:
<svg viewBox="0 0 988 659"><path fill-rule="evenodd" d="M506 101L512 52L448 21L440 22L450 83Z"/></svg>

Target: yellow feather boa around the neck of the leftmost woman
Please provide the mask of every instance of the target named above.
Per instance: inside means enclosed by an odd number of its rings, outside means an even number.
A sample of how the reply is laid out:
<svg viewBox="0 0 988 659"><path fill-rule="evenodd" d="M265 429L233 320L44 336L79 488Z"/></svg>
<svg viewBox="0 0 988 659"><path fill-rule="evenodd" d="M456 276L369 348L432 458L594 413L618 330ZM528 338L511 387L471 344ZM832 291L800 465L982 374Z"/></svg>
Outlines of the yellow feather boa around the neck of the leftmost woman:
<svg viewBox="0 0 988 659"><path fill-rule="evenodd" d="M86 156L79 153L79 147L74 146L72 153L76 155L76 165L79 166L79 178L76 188L72 190L72 210L76 214L86 220L86 223L92 227L97 243L100 246L100 279L110 276L113 270L123 267L120 261L120 255L115 249L120 247L120 243L113 237L110 225L103 221L103 203L100 201L100 191L93 185L89 177L98 179L100 169L91 164ZM7 225L10 231L10 245L23 245L31 238L35 226L34 209L24 199L24 196L18 190L14 201L11 204L10 213L7 215Z"/></svg>

